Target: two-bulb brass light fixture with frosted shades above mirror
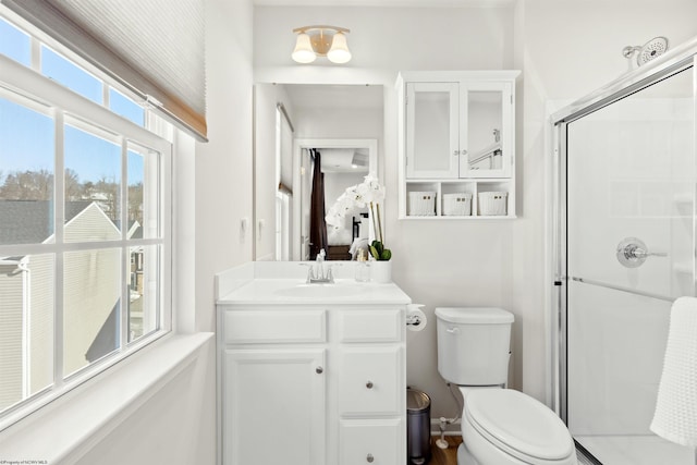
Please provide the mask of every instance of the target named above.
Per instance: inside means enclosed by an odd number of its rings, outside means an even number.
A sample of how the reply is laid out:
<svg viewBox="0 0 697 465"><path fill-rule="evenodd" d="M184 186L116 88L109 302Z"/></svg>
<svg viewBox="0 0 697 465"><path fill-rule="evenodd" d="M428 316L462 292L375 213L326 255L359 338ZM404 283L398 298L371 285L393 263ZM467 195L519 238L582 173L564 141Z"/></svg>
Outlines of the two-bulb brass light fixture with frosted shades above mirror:
<svg viewBox="0 0 697 465"><path fill-rule="evenodd" d="M346 45L346 34L351 30L337 26L303 26L293 29L297 34L293 60L311 63L317 56L327 57L332 63L346 63L351 51Z"/></svg>

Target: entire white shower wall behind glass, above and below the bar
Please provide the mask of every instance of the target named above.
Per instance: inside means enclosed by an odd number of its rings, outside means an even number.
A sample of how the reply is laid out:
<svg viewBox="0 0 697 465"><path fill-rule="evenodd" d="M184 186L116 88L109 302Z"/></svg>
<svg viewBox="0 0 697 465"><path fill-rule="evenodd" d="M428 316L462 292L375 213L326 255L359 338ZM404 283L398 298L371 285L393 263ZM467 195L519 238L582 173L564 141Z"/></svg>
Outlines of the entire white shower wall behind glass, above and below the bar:
<svg viewBox="0 0 697 465"><path fill-rule="evenodd" d="M570 277L665 298L694 295L692 95L692 71L683 72L570 123ZM668 256L623 267L616 247L632 236ZM568 282L568 426L577 438L658 440L648 426L671 303L607 286ZM585 445L594 452L597 443ZM615 463L639 462L607 462Z"/></svg>

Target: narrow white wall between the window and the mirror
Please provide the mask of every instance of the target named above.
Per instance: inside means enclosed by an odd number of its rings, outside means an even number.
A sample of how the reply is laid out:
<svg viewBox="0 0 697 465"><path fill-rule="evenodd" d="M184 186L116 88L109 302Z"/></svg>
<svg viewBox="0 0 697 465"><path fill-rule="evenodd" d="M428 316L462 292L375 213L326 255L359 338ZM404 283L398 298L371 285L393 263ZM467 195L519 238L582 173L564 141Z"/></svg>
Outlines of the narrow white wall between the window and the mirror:
<svg viewBox="0 0 697 465"><path fill-rule="evenodd" d="M206 1L208 139L196 146L196 329L216 327L213 274L252 259L252 2Z"/></svg>

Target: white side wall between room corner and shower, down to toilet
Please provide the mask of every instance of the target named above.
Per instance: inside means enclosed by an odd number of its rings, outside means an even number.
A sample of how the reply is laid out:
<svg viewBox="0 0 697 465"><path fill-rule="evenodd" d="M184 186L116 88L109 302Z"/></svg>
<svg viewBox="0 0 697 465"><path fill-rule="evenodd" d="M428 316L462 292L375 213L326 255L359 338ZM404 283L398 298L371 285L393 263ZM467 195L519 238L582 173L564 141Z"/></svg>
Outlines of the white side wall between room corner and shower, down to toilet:
<svg viewBox="0 0 697 465"><path fill-rule="evenodd" d="M523 70L518 85L517 180L518 215L511 257L511 298L521 310L517 336L523 355L514 363L523 375L523 389L551 400L549 363L549 260L546 223L550 157L548 140L550 102L572 101L627 71L622 49L667 36L672 47L697 35L692 17L697 4L689 0L521 0L516 7L516 64ZM522 143L522 146L521 146ZM545 354L546 358L540 355Z"/></svg>

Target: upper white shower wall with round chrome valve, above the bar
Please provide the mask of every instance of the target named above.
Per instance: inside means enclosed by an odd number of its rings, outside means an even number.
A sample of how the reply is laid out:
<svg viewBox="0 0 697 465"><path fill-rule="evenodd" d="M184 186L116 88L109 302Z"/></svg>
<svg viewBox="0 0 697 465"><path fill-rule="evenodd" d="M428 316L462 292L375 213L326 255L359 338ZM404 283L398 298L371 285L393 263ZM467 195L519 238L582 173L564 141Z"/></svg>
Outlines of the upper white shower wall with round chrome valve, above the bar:
<svg viewBox="0 0 697 465"><path fill-rule="evenodd" d="M570 125L572 276L692 295L692 108L690 99L625 99ZM629 236L669 257L622 267L614 250Z"/></svg>

